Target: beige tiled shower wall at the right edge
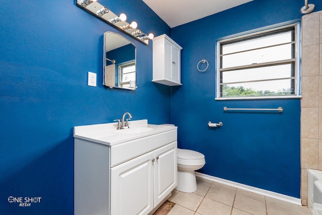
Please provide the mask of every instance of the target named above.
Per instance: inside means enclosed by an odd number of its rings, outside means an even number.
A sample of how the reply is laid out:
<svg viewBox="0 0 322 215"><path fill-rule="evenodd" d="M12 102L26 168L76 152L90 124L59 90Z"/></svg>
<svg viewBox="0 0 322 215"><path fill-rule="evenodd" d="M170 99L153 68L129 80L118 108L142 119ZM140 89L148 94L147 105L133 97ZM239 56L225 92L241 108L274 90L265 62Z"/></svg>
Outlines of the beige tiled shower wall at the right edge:
<svg viewBox="0 0 322 215"><path fill-rule="evenodd" d="M322 12L302 17L301 200L307 169L322 170Z"/></svg>

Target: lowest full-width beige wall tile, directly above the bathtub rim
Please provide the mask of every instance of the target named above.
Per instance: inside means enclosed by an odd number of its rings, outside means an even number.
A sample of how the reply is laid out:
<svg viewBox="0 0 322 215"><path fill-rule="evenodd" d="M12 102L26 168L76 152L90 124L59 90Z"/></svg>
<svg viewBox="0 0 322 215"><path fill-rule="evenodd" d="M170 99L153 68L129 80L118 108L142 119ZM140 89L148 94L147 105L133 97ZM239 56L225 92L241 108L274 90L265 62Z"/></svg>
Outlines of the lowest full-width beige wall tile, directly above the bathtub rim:
<svg viewBox="0 0 322 215"><path fill-rule="evenodd" d="M301 167L317 169L318 139L301 138Z"/></svg>

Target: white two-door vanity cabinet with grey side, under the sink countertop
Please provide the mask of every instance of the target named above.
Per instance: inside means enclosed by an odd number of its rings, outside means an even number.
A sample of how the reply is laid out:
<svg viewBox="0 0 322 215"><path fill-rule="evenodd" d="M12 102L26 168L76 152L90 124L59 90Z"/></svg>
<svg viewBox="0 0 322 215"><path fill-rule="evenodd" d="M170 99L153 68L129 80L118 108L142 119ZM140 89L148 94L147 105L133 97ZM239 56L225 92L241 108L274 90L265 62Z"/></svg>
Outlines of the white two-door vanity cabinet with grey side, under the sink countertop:
<svg viewBox="0 0 322 215"><path fill-rule="evenodd" d="M74 214L155 211L177 186L177 129L170 127L117 137L75 135L74 129ZM126 141L119 141L123 137Z"/></svg>

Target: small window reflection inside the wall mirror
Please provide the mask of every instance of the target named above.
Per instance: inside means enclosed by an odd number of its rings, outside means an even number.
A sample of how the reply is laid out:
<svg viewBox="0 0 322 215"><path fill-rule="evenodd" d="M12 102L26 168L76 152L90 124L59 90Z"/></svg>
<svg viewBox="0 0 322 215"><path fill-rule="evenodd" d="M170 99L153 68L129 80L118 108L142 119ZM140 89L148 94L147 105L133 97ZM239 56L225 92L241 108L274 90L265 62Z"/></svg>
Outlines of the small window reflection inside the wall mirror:
<svg viewBox="0 0 322 215"><path fill-rule="evenodd" d="M135 62L119 65L119 87L135 86Z"/></svg>

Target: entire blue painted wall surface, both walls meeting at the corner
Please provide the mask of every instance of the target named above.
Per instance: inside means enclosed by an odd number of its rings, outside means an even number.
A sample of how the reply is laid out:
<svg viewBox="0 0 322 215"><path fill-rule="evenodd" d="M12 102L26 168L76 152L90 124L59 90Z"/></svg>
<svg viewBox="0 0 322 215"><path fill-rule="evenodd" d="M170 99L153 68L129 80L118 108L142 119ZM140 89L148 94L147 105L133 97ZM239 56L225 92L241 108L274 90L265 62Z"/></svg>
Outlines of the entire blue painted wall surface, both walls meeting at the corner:
<svg viewBox="0 0 322 215"><path fill-rule="evenodd" d="M174 29L140 0L100 3L126 13L143 32L166 33L184 47L183 86L152 83L151 44L129 38L137 47L138 88L106 88L103 33L118 30L73 0L2 4L1 214L72 214L73 126L112 122L126 111L133 120L178 125L179 146L206 155L203 173L299 197L300 101L215 101L214 50L219 37L300 18L302 0L255 0ZM320 2L313 4L315 11L322 9ZM210 65L199 74L203 58ZM88 71L98 74L97 87L87 86ZM283 106L285 112L224 113L223 106ZM224 126L209 129L209 120ZM41 199L19 207L10 196Z"/></svg>

